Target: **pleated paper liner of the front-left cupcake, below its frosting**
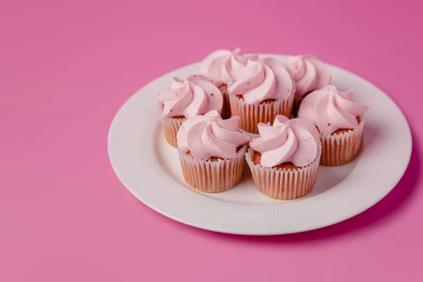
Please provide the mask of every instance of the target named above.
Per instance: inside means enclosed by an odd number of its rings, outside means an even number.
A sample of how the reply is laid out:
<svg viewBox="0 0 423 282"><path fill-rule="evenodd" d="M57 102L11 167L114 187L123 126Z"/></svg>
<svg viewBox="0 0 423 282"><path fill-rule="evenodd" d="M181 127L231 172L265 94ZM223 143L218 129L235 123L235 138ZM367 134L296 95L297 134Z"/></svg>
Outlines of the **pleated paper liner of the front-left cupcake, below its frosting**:
<svg viewBox="0 0 423 282"><path fill-rule="evenodd" d="M192 187L202 192L222 192L240 183L244 174L244 145L234 159L198 161L192 156L179 152L183 178Z"/></svg>

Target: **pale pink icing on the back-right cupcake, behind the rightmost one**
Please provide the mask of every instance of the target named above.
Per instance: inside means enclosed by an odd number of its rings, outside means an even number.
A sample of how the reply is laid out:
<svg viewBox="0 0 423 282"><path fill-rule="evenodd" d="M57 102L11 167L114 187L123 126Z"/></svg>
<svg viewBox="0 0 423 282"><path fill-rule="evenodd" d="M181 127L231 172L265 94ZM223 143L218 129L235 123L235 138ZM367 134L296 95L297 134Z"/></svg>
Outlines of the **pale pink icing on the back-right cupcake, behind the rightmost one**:
<svg viewBox="0 0 423 282"><path fill-rule="evenodd" d="M297 86L295 95L298 97L319 90L331 82L329 68L315 56L289 56L288 66L293 71Z"/></svg>

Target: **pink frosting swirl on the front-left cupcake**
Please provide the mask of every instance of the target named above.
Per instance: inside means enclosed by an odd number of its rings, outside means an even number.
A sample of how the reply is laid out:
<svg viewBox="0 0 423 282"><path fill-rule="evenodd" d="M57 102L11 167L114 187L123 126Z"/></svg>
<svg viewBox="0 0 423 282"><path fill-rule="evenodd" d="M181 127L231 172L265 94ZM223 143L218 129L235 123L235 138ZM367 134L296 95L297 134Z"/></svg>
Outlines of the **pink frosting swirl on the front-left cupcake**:
<svg viewBox="0 0 423 282"><path fill-rule="evenodd" d="M176 135L178 148L183 153L191 152L199 161L211 157L233 159L236 149L251 139L240 133L239 122L238 116L223 120L217 111L188 118Z"/></svg>

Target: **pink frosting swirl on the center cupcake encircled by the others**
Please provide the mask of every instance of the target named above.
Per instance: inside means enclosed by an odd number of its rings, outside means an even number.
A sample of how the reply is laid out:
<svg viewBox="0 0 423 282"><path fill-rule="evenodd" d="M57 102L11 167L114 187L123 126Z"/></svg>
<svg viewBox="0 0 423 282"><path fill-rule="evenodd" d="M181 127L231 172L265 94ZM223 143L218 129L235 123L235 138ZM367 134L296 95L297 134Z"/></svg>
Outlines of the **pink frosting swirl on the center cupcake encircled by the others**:
<svg viewBox="0 0 423 282"><path fill-rule="evenodd" d="M284 100L295 93L295 82L286 63L279 59L249 59L246 66L231 72L235 81L230 94L243 95L248 104L266 99Z"/></svg>

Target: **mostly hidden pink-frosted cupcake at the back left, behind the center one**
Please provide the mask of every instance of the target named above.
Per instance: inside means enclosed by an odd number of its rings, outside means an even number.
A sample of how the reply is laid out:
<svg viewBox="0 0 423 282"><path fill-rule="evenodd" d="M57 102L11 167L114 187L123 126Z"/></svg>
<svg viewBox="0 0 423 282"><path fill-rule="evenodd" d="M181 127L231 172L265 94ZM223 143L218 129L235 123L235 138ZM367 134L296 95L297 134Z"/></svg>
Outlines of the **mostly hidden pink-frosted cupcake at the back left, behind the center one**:
<svg viewBox="0 0 423 282"><path fill-rule="evenodd" d="M248 58L257 59L257 57L257 55L244 56L241 49L237 48L233 51L214 51L202 61L200 73L210 78L223 95L222 118L231 117L228 97L228 84L233 80L231 71L234 68L245 66Z"/></svg>

